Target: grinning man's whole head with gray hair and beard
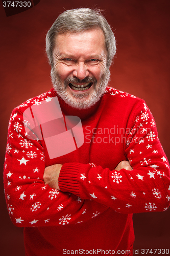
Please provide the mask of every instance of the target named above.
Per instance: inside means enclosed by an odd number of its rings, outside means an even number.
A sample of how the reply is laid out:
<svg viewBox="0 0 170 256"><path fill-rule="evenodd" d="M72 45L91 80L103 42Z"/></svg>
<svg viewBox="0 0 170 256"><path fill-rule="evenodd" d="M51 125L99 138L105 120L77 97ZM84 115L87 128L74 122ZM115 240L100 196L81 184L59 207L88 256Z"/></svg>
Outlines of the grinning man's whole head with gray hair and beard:
<svg viewBox="0 0 170 256"><path fill-rule="evenodd" d="M52 81L60 97L79 109L98 101L115 51L113 32L99 11L80 8L62 13L46 35Z"/></svg>

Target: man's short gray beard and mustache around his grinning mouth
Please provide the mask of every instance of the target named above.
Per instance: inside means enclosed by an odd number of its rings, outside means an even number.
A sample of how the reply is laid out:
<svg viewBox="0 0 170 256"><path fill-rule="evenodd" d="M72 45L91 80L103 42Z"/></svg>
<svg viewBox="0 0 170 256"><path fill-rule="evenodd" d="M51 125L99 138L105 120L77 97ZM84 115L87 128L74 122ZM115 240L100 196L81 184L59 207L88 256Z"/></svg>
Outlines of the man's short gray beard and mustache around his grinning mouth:
<svg viewBox="0 0 170 256"><path fill-rule="evenodd" d="M102 95L105 93L107 84L110 80L110 71L108 68L105 69L105 72L103 73L101 79L97 81L95 78L86 77L83 80L79 80L77 77L75 78L66 78L64 80L64 88L62 87L62 82L56 71L52 68L51 70L51 78L53 82L53 87L58 93L58 95L72 108L76 109L88 109L92 105L94 105L96 102L100 100ZM66 87L68 86L68 83L71 82L93 82L94 90L89 95L89 93L82 93L82 94L75 94L72 93L72 96L70 96L67 91ZM86 98L87 96L88 99Z"/></svg>

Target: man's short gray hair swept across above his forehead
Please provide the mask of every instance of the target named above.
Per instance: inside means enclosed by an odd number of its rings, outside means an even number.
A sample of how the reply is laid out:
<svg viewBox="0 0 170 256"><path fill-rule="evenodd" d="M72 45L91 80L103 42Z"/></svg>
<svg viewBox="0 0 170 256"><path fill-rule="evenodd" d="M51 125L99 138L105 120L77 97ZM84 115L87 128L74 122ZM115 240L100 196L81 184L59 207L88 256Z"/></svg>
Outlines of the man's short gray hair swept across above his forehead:
<svg viewBox="0 0 170 256"><path fill-rule="evenodd" d="M92 10L89 8L79 8L67 10L61 13L55 20L51 29L46 35L46 54L50 65L53 63L53 50L55 47L55 39L58 34L78 33L93 28L100 28L105 35L105 44L107 48L107 67L111 66L113 57L116 53L116 41L114 34L100 10Z"/></svg>

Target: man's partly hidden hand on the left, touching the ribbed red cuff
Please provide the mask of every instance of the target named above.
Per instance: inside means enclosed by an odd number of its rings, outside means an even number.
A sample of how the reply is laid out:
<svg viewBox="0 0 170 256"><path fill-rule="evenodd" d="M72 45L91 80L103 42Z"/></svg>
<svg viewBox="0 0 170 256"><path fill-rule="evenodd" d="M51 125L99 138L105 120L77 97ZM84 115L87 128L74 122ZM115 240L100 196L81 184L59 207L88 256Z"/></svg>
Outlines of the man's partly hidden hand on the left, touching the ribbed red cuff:
<svg viewBox="0 0 170 256"><path fill-rule="evenodd" d="M44 175L43 175L45 185L49 185L51 188L60 190L58 186L58 178L59 178L61 167L62 167L62 164L54 164L54 165L45 167Z"/></svg>

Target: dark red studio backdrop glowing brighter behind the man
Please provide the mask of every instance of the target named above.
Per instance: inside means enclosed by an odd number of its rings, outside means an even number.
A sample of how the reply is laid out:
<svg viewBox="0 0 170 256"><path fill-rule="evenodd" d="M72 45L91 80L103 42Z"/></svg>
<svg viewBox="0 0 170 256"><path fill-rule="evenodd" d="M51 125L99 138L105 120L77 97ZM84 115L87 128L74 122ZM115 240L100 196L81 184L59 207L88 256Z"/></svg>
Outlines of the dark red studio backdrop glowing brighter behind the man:
<svg viewBox="0 0 170 256"><path fill-rule="evenodd" d="M45 56L45 34L67 9L101 8L117 40L110 86L143 98L155 117L167 157L169 148L169 0L41 0L6 17L0 3L1 45L1 255L25 255L22 229L7 213L3 163L10 114L23 101L52 87ZM135 250L169 249L170 209L134 215ZM81 247L81 246L80 246ZM150 254L151 255L151 254ZM60 256L60 255L59 255Z"/></svg>

